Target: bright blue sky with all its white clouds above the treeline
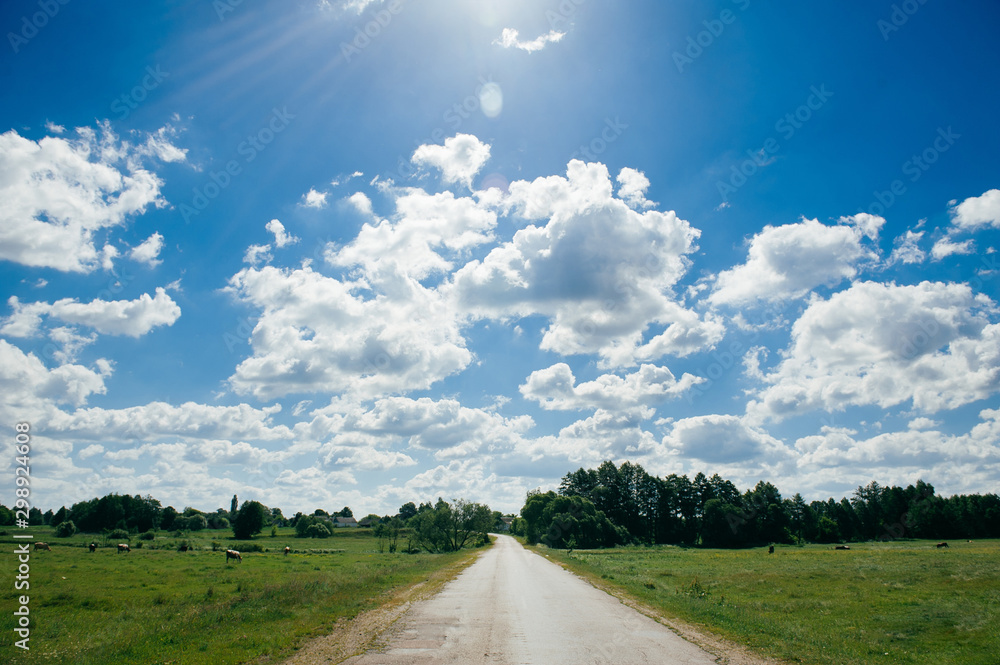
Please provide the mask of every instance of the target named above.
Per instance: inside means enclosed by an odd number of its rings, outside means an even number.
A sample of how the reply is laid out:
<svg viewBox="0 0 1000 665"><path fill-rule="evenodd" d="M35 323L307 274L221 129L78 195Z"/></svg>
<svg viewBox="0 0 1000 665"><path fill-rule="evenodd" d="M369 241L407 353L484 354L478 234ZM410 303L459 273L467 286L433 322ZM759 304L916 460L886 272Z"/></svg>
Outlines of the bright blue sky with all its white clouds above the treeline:
<svg viewBox="0 0 1000 665"><path fill-rule="evenodd" d="M995 492L998 20L6 2L34 502L514 512L604 459Z"/></svg>

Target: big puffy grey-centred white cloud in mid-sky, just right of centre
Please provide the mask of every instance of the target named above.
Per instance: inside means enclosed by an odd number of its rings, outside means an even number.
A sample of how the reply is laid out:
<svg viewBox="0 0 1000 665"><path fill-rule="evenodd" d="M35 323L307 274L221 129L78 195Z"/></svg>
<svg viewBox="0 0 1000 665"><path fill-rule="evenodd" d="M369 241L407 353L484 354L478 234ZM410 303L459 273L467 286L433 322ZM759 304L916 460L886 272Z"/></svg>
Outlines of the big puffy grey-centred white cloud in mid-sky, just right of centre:
<svg viewBox="0 0 1000 665"><path fill-rule="evenodd" d="M672 211L640 213L614 198L603 164L573 160L566 177L513 182L505 205L543 221L455 273L453 295L469 316L546 316L543 349L597 353L608 367L685 356L721 339L719 321L671 293L698 230ZM652 325L662 330L646 334Z"/></svg>

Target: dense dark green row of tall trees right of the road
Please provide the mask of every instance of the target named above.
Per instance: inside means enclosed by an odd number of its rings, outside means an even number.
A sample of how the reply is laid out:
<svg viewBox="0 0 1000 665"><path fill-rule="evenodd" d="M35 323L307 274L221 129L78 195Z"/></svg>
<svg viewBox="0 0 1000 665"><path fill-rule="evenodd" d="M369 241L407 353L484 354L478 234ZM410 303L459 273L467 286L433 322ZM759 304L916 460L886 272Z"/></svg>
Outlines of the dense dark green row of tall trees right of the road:
<svg viewBox="0 0 1000 665"><path fill-rule="evenodd" d="M558 492L529 493L513 529L559 548L998 538L1000 497L940 497L921 480L905 488L871 482L850 498L807 503L763 481L741 493L718 474L658 478L638 464L604 462L566 474Z"/></svg>

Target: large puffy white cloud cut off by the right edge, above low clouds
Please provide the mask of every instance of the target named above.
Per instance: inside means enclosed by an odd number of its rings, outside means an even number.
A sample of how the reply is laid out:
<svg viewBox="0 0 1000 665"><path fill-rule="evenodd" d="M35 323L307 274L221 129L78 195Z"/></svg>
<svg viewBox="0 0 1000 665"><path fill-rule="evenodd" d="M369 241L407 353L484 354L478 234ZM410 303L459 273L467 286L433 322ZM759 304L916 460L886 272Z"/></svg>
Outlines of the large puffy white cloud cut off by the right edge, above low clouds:
<svg viewBox="0 0 1000 665"><path fill-rule="evenodd" d="M747 406L780 420L849 405L912 402L925 413L1000 389L1000 325L968 285L862 282L815 300L792 327L784 360Z"/></svg>

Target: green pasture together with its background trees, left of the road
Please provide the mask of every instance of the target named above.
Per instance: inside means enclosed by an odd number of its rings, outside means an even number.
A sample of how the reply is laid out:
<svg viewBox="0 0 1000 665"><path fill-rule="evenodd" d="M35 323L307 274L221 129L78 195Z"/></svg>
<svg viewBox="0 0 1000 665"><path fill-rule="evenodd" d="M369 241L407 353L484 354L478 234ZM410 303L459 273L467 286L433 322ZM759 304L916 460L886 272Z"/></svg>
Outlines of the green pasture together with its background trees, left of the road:
<svg viewBox="0 0 1000 665"><path fill-rule="evenodd" d="M8 642L4 662L95 665L280 660L338 620L463 565L503 524L464 500L356 520L347 506L286 518L236 496L229 510L203 512L119 494L32 508L26 530L14 522L0 506L8 570L19 565L15 543L25 542L15 534L51 549L30 552L30 588L0 592L3 634L15 635L20 596L31 612L30 652ZM241 557L230 561L227 550Z"/></svg>

